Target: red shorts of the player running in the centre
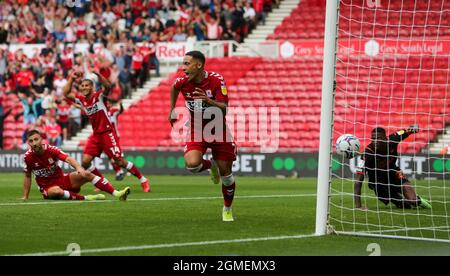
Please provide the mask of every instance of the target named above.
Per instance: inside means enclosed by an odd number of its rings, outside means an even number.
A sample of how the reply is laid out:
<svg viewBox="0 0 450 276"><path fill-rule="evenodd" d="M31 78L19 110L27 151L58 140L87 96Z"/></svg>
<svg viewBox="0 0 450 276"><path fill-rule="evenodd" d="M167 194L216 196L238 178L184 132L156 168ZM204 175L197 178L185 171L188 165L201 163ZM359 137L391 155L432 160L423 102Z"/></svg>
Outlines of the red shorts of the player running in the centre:
<svg viewBox="0 0 450 276"><path fill-rule="evenodd" d="M230 142L187 142L184 148L184 154L188 153L191 150L198 150L204 154L208 148L211 149L214 160L236 160L237 147L234 143Z"/></svg>

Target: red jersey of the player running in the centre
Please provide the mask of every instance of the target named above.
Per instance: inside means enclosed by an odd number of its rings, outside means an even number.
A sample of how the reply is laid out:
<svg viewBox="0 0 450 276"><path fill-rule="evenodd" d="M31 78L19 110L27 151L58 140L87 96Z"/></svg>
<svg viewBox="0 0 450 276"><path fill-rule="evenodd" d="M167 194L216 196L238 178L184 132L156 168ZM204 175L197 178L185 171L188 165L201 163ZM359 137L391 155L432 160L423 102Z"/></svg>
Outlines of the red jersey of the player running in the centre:
<svg viewBox="0 0 450 276"><path fill-rule="evenodd" d="M222 75L214 72L206 72L205 78L201 83L194 83L188 81L187 77L177 78L175 80L175 89L179 90L186 101L186 107L191 111L191 119L193 118L194 110L204 110L207 108L206 104L201 101L195 101L192 93L195 88L200 88L205 91L208 98L217 102L228 102L228 91L225 85L225 80ZM204 119L202 124L205 126L210 120ZM226 129L225 116L223 116L224 130ZM194 121L191 120L191 130L193 130ZM225 133L224 133L225 134ZM191 131L191 138L193 138L194 132ZM223 136L225 139L225 135ZM227 139L228 140L228 139ZM229 141L229 140L228 140Z"/></svg>

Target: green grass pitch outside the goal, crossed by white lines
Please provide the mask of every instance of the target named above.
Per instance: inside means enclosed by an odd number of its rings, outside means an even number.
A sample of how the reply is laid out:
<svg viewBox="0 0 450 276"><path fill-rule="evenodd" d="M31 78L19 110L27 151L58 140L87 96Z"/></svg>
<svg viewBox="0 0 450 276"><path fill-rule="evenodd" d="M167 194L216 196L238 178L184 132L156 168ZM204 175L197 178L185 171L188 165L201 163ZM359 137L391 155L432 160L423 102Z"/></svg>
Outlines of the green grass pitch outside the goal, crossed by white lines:
<svg viewBox="0 0 450 276"><path fill-rule="evenodd" d="M235 221L225 223L221 188L205 175L150 176L149 194L134 177L112 181L131 187L126 202L46 201L33 180L22 202L22 174L2 173L0 255L69 255L68 245L77 244L81 255L367 256L370 243L381 255L450 255L449 243L314 237L316 179L236 179Z"/></svg>

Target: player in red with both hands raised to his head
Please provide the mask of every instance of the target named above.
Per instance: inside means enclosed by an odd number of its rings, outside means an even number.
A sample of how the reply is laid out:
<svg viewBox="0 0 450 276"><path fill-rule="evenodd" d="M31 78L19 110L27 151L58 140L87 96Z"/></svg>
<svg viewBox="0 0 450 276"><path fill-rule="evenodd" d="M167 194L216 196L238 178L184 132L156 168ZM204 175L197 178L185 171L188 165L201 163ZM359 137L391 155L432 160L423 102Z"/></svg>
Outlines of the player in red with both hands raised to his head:
<svg viewBox="0 0 450 276"><path fill-rule="evenodd" d="M63 87L64 96L73 102L81 105L86 111L92 124L93 135L89 136L83 153L82 166L95 175L101 176L100 172L92 164L95 157L105 152L114 162L122 168L126 168L132 175L136 176L144 192L150 192L150 183L142 173L123 158L122 149L117 140L116 133L111 124L106 107L106 96L111 90L111 83L98 72L97 75L104 90L94 90L94 82L90 79L82 79L83 73L74 71L70 74L67 84ZM72 91L72 85L75 80L81 80L79 92Z"/></svg>

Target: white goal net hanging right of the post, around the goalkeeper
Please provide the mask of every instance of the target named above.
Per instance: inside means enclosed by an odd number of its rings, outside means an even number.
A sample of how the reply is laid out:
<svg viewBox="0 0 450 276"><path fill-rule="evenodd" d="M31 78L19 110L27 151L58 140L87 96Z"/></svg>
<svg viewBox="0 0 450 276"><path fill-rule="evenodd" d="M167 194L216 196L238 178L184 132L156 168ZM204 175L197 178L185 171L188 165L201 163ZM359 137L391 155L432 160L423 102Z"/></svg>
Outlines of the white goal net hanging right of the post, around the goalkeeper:
<svg viewBox="0 0 450 276"><path fill-rule="evenodd" d="M355 208L361 155L333 154L328 225L337 233L450 241L450 1L341 0L337 21L331 150L345 133L360 139L362 153L372 129L389 135L418 125L399 144L397 165L432 209L385 205L367 175L361 202L368 210Z"/></svg>

